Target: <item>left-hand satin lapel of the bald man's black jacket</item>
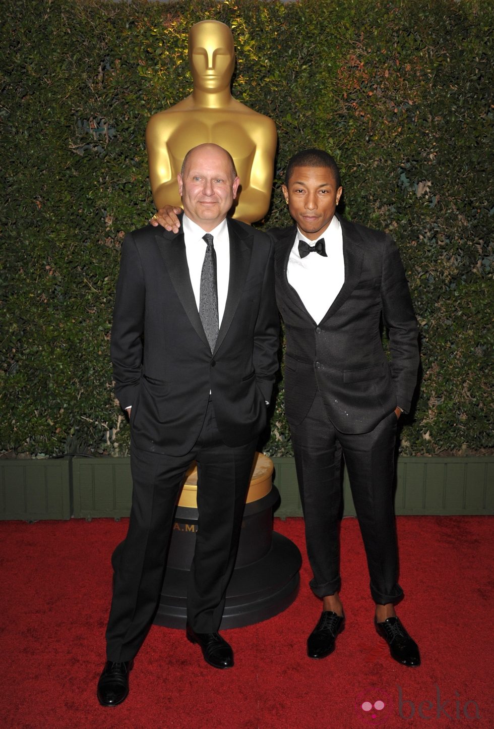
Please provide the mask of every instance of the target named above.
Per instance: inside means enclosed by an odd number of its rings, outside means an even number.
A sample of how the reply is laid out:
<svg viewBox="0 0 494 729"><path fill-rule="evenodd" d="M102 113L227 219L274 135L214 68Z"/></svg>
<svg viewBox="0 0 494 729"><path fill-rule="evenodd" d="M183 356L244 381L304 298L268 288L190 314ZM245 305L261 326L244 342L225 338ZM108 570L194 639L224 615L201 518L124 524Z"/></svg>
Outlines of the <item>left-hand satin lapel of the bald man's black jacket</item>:
<svg viewBox="0 0 494 729"><path fill-rule="evenodd" d="M168 233L168 230L163 228L160 230L160 233L156 233L156 240L176 295L179 297L180 303L184 307L192 327L194 327L205 345L209 346L203 324L200 321L199 312L197 311L192 284L190 283L184 233L181 232L181 229L179 233Z"/></svg>

